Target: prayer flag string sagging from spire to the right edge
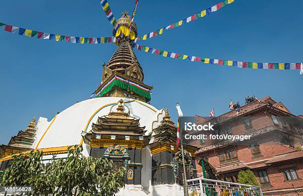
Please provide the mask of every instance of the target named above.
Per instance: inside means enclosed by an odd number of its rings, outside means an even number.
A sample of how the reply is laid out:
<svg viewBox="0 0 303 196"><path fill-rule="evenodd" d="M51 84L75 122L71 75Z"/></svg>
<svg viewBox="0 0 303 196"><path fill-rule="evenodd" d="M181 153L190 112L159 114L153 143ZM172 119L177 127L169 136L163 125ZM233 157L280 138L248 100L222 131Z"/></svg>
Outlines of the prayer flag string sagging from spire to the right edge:
<svg viewBox="0 0 303 196"><path fill-rule="evenodd" d="M185 54L179 54L175 52L168 52L165 50L159 50L156 48L151 48L144 45L135 44L135 48L140 51L147 53L152 53L155 55L160 55L163 57L170 57L181 60L190 60L190 61L201 61L204 64L217 64L217 65L226 65L231 67L238 68L251 68L251 69L269 69L269 70L301 70L303 69L303 63L256 63L256 62L242 62L242 61L232 61L232 60L220 60L220 59L211 59L211 58L202 58L198 56L191 56Z"/></svg>

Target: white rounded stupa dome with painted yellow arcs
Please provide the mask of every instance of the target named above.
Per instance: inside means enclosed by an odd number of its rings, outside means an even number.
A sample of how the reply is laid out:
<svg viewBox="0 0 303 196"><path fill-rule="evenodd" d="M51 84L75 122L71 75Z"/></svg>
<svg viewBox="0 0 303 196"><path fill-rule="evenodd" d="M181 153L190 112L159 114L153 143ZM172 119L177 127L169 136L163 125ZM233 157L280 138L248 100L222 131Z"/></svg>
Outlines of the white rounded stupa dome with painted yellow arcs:
<svg viewBox="0 0 303 196"><path fill-rule="evenodd" d="M34 149L64 147L82 144L82 131L89 132L98 117L108 115L110 108L123 99L130 116L140 119L140 126L146 126L146 135L162 120L164 110L157 110L142 101L121 97L100 97L85 100L54 116L50 121L40 117Z"/></svg>

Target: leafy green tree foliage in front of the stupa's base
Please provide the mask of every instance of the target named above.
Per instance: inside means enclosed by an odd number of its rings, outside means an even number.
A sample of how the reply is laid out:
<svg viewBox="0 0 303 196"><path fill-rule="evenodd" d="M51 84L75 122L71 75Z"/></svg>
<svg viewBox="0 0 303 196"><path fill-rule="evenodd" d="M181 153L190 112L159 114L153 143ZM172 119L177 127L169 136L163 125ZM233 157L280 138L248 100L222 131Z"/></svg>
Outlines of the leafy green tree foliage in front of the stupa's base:
<svg viewBox="0 0 303 196"><path fill-rule="evenodd" d="M42 164L42 152L16 155L1 177L2 186L31 186L34 196L113 196L124 187L125 168L112 169L106 158L85 157L81 148L68 149L66 159Z"/></svg>

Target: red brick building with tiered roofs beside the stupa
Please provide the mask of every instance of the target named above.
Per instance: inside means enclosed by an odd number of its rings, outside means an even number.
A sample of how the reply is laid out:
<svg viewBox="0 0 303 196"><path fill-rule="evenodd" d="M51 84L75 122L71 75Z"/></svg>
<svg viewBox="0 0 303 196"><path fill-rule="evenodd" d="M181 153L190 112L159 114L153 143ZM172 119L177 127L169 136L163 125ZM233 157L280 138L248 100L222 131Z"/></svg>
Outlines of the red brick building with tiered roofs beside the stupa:
<svg viewBox="0 0 303 196"><path fill-rule="evenodd" d="M206 134L251 135L251 139L196 140L191 144L200 147L198 163L204 158L220 180L230 182L237 182L240 170L251 169L267 196L303 195L302 116L291 114L269 96L246 101L245 106L234 104L235 110L216 117L220 120L215 131ZM205 118L197 120L202 123ZM201 175L201 166L197 169Z"/></svg>

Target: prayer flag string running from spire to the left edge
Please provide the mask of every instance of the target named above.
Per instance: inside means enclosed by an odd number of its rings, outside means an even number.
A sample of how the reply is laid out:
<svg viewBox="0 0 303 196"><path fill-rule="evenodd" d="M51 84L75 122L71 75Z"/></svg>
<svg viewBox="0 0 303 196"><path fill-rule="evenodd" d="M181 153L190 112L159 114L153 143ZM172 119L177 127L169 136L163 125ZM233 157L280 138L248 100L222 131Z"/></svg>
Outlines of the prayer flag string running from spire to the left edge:
<svg viewBox="0 0 303 196"><path fill-rule="evenodd" d="M56 41L67 41L71 43L110 43L115 42L115 37L107 37L107 38L84 38L84 37L73 37L73 36L61 36L58 34L49 34L39 31L34 31L30 29L23 29L20 27L6 25L4 23L0 23L0 27L4 26L4 31L10 33L16 33L20 36L25 35L27 37L33 38L37 35L37 39L55 39Z"/></svg>

